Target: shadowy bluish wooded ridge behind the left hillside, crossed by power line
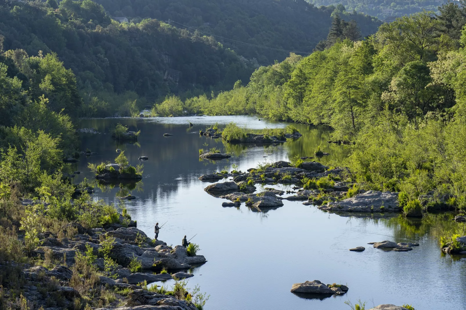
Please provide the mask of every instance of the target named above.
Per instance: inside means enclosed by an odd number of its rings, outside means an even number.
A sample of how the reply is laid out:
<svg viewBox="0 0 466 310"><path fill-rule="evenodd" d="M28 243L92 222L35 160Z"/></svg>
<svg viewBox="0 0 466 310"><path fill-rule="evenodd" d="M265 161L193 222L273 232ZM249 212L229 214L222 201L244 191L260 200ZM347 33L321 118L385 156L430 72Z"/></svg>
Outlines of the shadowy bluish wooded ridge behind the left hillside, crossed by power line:
<svg viewBox="0 0 466 310"><path fill-rule="evenodd" d="M311 53L325 39L335 7L317 8L304 0L96 0L112 16L130 20L155 18L173 20L180 28L190 27L218 36L225 47L246 58L268 65L282 61L288 52L250 45ZM363 36L377 31L380 22L357 13L342 14L346 21L356 20ZM223 40L223 37L231 40ZM299 53L298 53L299 54ZM244 81L244 80L243 80Z"/></svg>

